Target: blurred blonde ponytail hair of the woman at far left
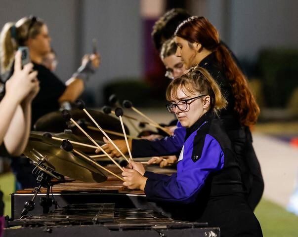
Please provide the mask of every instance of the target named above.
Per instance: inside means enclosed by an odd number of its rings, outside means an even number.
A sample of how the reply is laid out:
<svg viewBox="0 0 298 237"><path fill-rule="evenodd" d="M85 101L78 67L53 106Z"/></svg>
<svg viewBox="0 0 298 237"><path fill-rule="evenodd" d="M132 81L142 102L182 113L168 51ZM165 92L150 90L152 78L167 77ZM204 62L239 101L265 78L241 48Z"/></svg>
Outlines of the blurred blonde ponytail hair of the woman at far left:
<svg viewBox="0 0 298 237"><path fill-rule="evenodd" d="M35 17L23 17L15 24L6 23L0 33L0 65L1 73L10 70L14 53L19 46L24 46L28 39L40 34L43 20ZM29 29L30 28L30 29Z"/></svg>

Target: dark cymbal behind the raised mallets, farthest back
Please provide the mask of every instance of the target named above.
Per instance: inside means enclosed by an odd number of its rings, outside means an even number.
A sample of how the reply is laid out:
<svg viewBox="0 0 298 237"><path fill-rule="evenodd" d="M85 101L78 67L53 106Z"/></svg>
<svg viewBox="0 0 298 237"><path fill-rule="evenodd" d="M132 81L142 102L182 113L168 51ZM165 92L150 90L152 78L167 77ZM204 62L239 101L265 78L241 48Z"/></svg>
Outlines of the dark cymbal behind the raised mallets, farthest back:
<svg viewBox="0 0 298 237"><path fill-rule="evenodd" d="M95 110L87 110L88 113L92 116L92 118L94 118L94 120L99 124L99 126L102 129L108 129L108 130L112 130L115 132L120 132L122 133L122 127L121 127L121 123L120 120L118 118L114 118L112 116L106 115L100 111L95 111ZM92 120L85 114L84 111L82 110L72 110L71 111L72 114L72 118L76 121L78 121L79 119L81 120L85 120L88 124L92 124L92 126L95 127L95 124L92 122ZM84 128L84 126L83 126ZM36 131L48 131L48 132L53 132L53 133L59 133L61 131L64 131L64 129L68 129L68 126L66 124L66 122L64 121L64 119L62 118L61 112L60 111L55 111L55 112L51 112L49 114L44 115L43 117L39 118L36 123L34 124L34 129ZM98 139L98 140L103 140L102 137L102 133L101 132L94 132L91 131L87 128L84 128L85 131L87 131L87 133L89 133L89 135L92 138ZM73 133L79 136L83 136L84 134L82 133L82 131L80 131L80 129L77 129L77 127L73 126L72 127ZM129 130L128 127L125 125L125 130L127 132L127 134L129 134ZM119 136L115 136L115 135L110 135L111 139L119 139Z"/></svg>

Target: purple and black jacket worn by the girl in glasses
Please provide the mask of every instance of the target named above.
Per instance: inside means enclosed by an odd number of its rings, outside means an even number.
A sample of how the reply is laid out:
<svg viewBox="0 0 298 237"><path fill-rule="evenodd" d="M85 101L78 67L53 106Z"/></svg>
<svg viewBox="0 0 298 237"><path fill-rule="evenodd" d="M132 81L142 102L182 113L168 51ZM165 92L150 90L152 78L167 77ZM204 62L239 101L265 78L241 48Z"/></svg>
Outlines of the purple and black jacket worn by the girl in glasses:
<svg viewBox="0 0 298 237"><path fill-rule="evenodd" d="M168 176L146 171L146 197L191 203L205 185L210 185L210 197L243 193L237 158L220 119L207 112L185 131L177 173Z"/></svg>

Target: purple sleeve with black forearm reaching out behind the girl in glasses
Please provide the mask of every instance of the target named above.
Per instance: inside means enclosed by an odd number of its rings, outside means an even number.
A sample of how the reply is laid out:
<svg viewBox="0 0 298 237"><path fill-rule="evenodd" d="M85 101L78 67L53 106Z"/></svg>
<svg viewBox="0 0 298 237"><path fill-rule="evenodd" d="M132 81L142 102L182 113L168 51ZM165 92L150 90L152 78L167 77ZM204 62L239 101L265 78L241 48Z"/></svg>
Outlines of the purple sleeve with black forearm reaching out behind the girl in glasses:
<svg viewBox="0 0 298 237"><path fill-rule="evenodd" d="M149 141L147 139L132 139L132 157L168 156L179 152L183 146L186 129L177 123L174 135L163 139Z"/></svg>

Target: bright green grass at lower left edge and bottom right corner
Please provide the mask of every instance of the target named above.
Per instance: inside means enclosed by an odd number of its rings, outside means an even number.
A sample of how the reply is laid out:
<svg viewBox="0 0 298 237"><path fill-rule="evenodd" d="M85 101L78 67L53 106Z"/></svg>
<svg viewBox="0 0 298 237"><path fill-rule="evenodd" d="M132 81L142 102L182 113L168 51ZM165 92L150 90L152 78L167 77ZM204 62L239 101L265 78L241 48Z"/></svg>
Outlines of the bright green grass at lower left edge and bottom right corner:
<svg viewBox="0 0 298 237"><path fill-rule="evenodd" d="M0 175L0 189L4 193L4 215L11 216L10 195L14 192L14 176L12 173ZM255 216L261 224L264 237L298 236L298 216L289 213L285 208L262 199L255 210Z"/></svg>

